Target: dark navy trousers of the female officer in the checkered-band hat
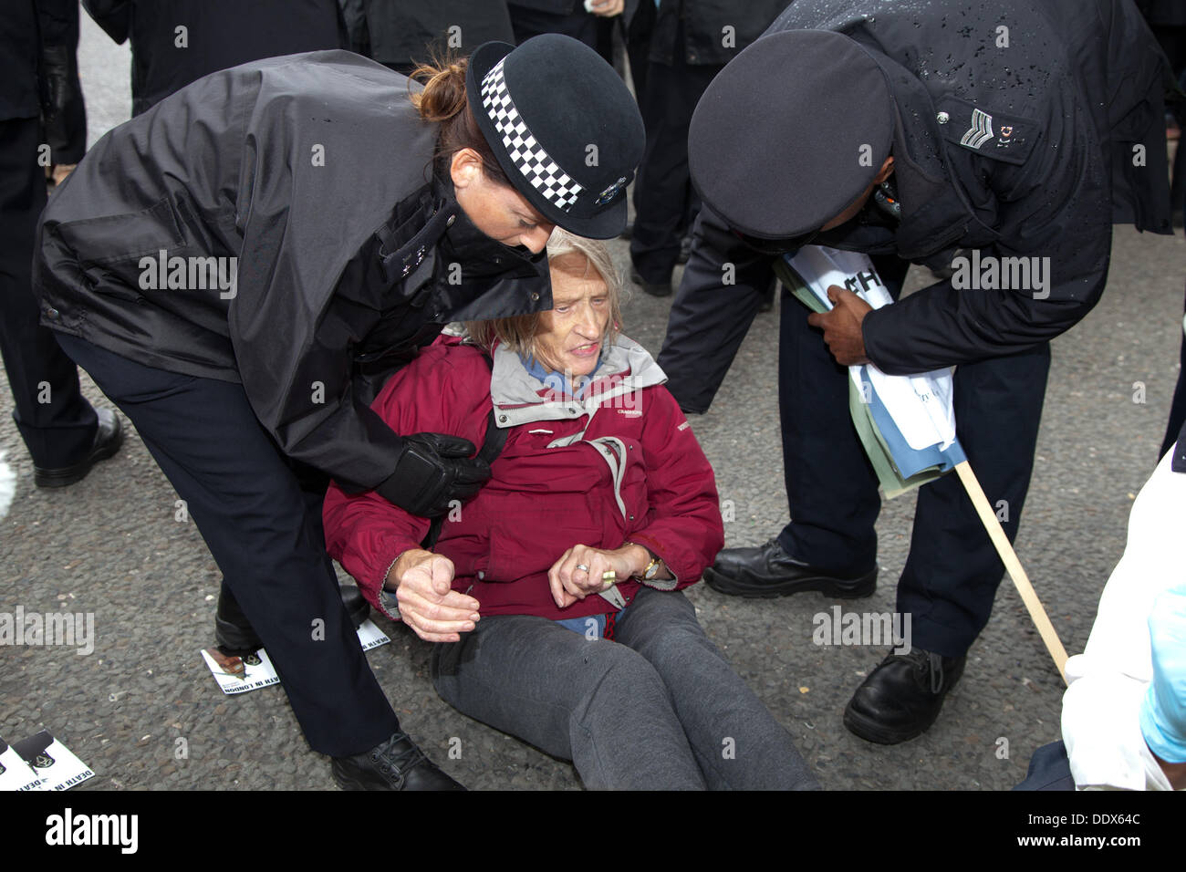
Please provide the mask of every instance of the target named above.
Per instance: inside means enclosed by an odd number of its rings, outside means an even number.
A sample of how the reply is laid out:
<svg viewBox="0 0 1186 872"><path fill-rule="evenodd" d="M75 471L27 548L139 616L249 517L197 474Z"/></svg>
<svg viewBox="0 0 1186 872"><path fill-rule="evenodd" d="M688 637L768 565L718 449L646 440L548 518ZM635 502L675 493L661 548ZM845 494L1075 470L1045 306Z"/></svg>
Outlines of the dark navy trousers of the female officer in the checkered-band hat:
<svg viewBox="0 0 1186 872"><path fill-rule="evenodd" d="M310 746L340 757L390 737L400 721L342 604L321 501L301 491L243 387L145 367L72 336L59 342L132 419L186 502Z"/></svg>

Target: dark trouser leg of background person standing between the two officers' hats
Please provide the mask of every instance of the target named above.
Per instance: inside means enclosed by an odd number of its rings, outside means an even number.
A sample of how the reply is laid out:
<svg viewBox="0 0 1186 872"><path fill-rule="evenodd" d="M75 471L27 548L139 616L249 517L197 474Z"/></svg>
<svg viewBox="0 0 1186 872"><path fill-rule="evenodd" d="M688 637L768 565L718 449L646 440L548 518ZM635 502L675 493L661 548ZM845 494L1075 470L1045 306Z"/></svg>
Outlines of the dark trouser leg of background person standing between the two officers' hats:
<svg viewBox="0 0 1186 872"><path fill-rule="evenodd" d="M683 45L680 39L676 43ZM635 183L635 229L630 260L643 281L671 281L680 241L699 208L688 172L691 113L721 66L691 66L676 51L674 63L651 63L639 101L646 149Z"/></svg>

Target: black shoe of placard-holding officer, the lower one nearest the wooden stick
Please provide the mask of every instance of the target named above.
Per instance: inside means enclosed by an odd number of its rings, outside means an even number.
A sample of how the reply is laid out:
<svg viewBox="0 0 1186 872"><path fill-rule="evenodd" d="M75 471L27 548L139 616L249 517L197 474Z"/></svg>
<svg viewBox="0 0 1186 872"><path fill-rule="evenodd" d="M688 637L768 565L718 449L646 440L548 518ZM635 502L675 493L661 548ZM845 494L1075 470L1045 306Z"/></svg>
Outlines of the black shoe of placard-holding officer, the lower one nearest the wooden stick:
<svg viewBox="0 0 1186 872"><path fill-rule="evenodd" d="M879 745L922 736L939 717L967 662L967 656L944 657L920 648L890 654L856 688L844 708L844 726Z"/></svg>

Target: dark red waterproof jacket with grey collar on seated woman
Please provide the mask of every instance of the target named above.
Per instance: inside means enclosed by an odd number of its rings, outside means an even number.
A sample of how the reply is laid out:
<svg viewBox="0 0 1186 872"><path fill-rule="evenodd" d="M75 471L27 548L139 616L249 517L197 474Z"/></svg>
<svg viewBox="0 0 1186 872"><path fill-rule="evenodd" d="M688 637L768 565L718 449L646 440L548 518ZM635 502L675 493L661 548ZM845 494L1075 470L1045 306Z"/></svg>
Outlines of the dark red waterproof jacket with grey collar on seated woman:
<svg viewBox="0 0 1186 872"><path fill-rule="evenodd" d="M453 561L453 588L476 598L483 615L616 611L639 581L619 583L620 599L592 596L560 610L548 569L574 545L626 541L661 556L675 575L653 586L697 581L725 532L712 466L663 381L625 337L606 350L582 400L553 392L505 349L496 349L491 373L479 351L455 339L425 349L393 376L371 408L396 433L451 433L480 445L495 402L510 429L490 482L449 513L433 548ZM400 554L420 547L429 522L374 491L351 497L336 484L324 518L330 554L372 605L396 617L390 592L381 602L383 579Z"/></svg>

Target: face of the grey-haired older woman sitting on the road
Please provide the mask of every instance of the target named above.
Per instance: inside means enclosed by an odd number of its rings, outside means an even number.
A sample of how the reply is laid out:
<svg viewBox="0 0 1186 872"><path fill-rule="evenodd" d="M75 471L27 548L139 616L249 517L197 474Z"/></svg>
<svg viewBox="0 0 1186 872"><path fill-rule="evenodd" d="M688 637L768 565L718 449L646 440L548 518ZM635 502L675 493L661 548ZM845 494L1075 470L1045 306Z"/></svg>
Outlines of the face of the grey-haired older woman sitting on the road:
<svg viewBox="0 0 1186 872"><path fill-rule="evenodd" d="M610 291L584 254L553 257L548 266L553 308L540 313L536 357L570 378L589 375L610 329Z"/></svg>

